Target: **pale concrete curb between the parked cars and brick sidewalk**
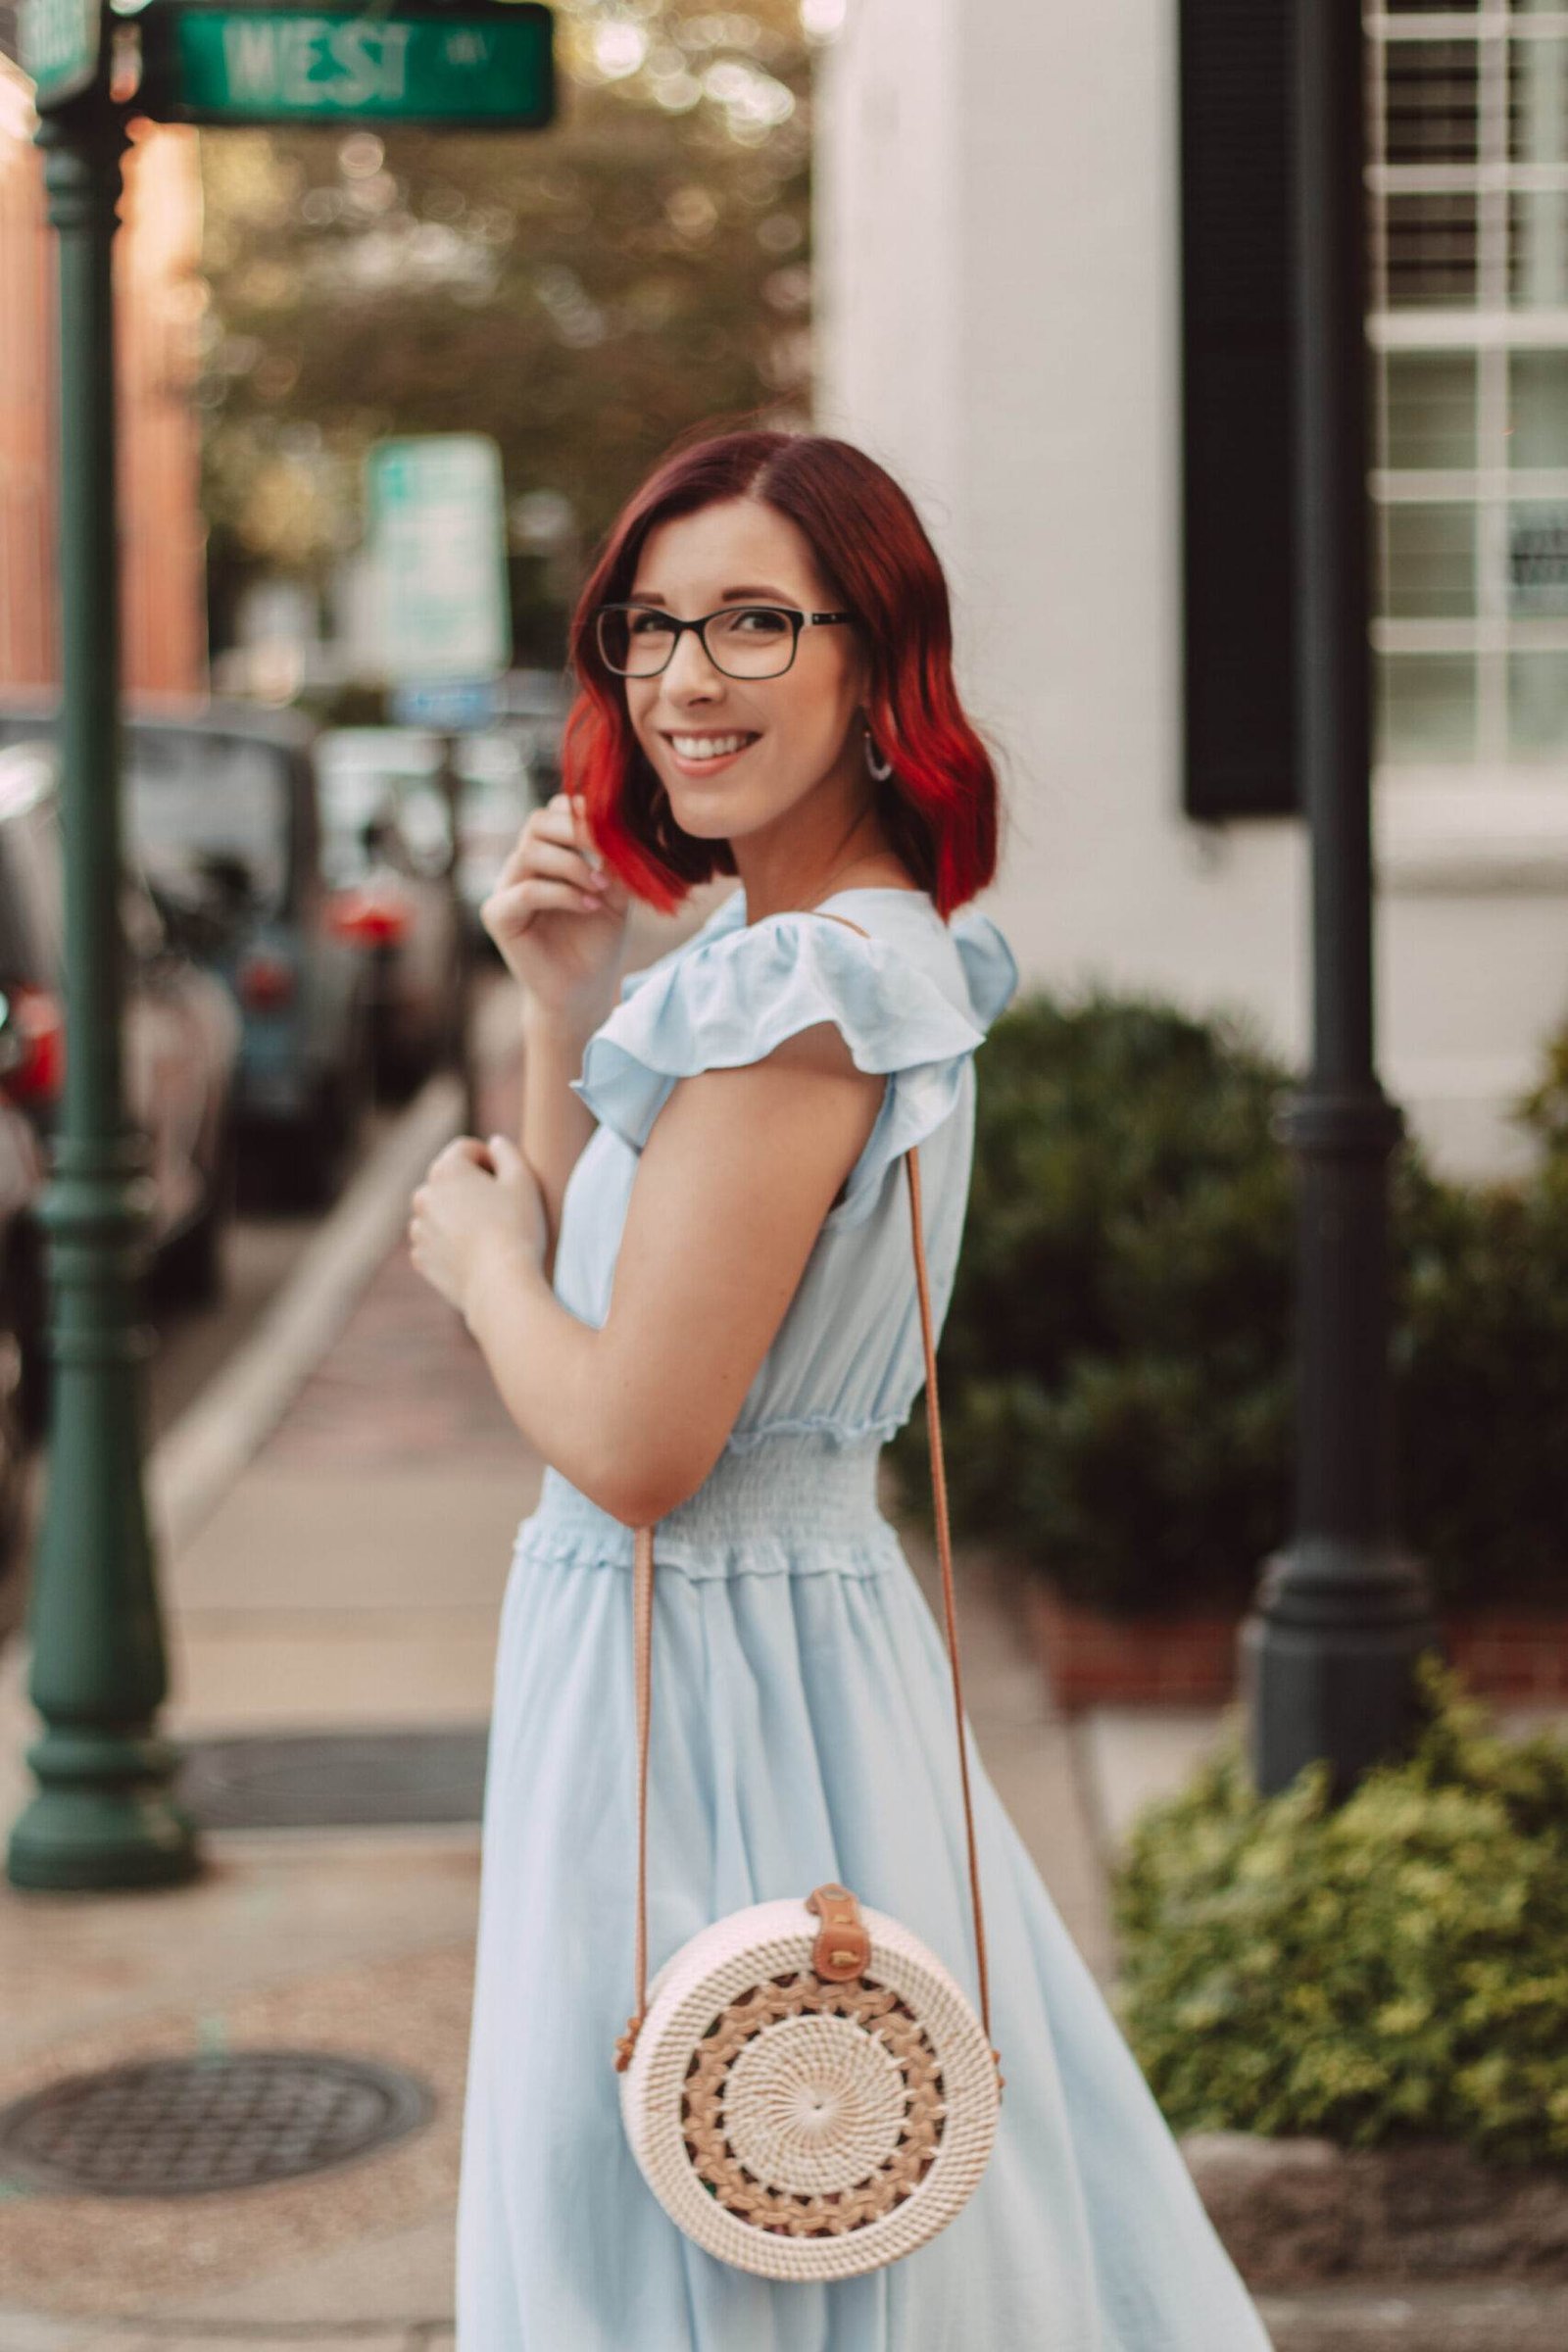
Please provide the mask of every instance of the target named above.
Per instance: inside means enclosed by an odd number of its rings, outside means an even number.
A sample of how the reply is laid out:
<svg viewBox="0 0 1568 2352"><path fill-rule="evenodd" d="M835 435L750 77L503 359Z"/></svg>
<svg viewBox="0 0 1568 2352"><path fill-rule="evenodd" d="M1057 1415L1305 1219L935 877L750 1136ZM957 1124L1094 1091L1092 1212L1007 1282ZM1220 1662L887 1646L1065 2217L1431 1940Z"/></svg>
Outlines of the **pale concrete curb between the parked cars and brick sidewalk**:
<svg viewBox="0 0 1568 2352"><path fill-rule="evenodd" d="M162 1555L179 1552L282 1421L409 1221L409 1195L463 1129L463 1089L440 1070L322 1218L256 1329L158 1442L146 1465Z"/></svg>

